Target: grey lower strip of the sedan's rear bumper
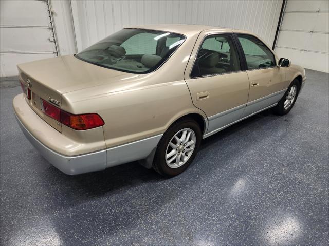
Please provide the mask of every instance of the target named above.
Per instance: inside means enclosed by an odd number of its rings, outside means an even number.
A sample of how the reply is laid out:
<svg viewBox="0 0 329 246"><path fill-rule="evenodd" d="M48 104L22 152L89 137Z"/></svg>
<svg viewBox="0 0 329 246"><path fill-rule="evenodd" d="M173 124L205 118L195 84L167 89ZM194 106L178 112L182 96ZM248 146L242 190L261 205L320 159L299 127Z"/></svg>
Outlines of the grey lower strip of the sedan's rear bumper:
<svg viewBox="0 0 329 246"><path fill-rule="evenodd" d="M15 114L16 116L16 114ZM103 170L106 167L106 149L78 156L64 156L45 146L36 139L16 116L25 137L40 154L65 174L76 175Z"/></svg>

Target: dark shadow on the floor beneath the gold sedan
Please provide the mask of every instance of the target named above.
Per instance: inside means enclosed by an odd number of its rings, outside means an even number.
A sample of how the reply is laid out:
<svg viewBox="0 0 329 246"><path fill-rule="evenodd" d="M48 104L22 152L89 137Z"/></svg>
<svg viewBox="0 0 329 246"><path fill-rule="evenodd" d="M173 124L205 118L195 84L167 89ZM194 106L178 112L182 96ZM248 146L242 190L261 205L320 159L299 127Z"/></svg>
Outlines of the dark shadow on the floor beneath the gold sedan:
<svg viewBox="0 0 329 246"><path fill-rule="evenodd" d="M252 127L252 125L257 122L265 121L264 124L266 124L266 121L271 121L273 117L277 116L272 115L270 110L266 110L258 115L238 122L204 139L200 146L200 152L212 144L225 141L224 139L238 131ZM199 161L200 158L203 158L202 156L200 157L200 154L202 153L199 153L197 158ZM197 163L193 163L193 165L197 165ZM185 172L189 172L189 169ZM57 178L52 179L52 181L49 180L49 173L52 173L53 176ZM107 168L104 171L75 176L66 175L49 164L49 167L46 169L46 172L43 172L43 175L44 178L47 179L47 182L54 182L53 185L61 182L61 187L63 188L62 192L75 193L76 196L83 196L85 199L116 193L119 190L125 190L132 186L144 185L145 183L159 183L168 180L168 178L162 177L153 169L144 168L138 162L130 162ZM52 185L48 187L52 187ZM65 191L66 187L69 187L70 190Z"/></svg>

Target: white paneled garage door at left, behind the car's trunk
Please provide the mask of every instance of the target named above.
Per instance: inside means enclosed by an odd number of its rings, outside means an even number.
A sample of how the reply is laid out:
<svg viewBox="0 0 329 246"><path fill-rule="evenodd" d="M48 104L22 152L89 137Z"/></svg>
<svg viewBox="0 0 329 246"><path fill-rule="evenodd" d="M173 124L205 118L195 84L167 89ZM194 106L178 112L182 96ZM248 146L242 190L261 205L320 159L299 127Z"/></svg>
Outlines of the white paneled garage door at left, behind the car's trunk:
<svg viewBox="0 0 329 246"><path fill-rule="evenodd" d="M57 56L47 1L0 1L1 76L16 64Z"/></svg>

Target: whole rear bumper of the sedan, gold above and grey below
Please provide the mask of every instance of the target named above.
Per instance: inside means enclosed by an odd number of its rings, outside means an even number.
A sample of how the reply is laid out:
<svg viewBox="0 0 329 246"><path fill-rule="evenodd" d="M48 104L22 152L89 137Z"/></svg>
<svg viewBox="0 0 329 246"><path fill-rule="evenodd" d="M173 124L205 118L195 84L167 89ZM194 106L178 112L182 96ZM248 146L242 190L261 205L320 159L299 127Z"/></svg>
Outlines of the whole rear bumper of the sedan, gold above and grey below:
<svg viewBox="0 0 329 246"><path fill-rule="evenodd" d="M75 175L106 168L105 143L101 149L81 152L80 146L88 149L89 145L70 139L47 124L31 109L23 94L19 94L13 99L13 109L26 138L45 159L63 173ZM71 151L72 149L79 150L80 153L75 154ZM73 154L67 155L66 153Z"/></svg>

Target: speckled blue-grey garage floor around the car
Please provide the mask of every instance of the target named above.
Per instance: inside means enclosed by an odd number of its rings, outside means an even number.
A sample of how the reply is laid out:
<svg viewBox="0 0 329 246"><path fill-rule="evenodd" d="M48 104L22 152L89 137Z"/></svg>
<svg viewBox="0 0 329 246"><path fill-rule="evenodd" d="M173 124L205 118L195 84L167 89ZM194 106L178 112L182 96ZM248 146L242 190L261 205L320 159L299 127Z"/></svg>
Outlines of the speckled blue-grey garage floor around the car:
<svg viewBox="0 0 329 246"><path fill-rule="evenodd" d="M137 163L61 173L15 122L21 88L2 83L0 244L325 245L329 74L307 78L288 115L265 111L204 140L172 179Z"/></svg>

